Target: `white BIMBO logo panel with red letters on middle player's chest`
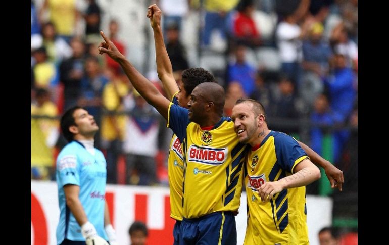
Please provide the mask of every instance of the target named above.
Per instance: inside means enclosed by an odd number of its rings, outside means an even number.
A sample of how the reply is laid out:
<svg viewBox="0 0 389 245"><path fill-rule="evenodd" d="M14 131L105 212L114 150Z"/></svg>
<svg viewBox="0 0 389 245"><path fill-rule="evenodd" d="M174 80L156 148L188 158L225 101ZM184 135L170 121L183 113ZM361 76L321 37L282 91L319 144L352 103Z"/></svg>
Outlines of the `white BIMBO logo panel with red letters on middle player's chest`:
<svg viewBox="0 0 389 245"><path fill-rule="evenodd" d="M188 161L203 164L219 165L223 164L226 161L228 149L208 148L190 145L187 154Z"/></svg>

